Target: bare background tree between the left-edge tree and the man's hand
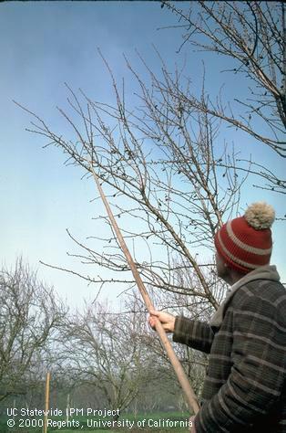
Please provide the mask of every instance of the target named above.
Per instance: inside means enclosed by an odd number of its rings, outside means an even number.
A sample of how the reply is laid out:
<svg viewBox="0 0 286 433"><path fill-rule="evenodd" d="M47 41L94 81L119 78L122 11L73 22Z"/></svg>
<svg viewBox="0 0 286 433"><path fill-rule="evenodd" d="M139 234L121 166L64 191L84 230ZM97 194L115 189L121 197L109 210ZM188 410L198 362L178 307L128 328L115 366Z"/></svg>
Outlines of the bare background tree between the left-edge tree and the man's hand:
<svg viewBox="0 0 286 433"><path fill-rule="evenodd" d="M124 410L150 381L151 358L138 339L142 326L145 317L142 322L134 312L112 313L100 304L66 322L70 372L80 384L94 386L110 409Z"/></svg>

